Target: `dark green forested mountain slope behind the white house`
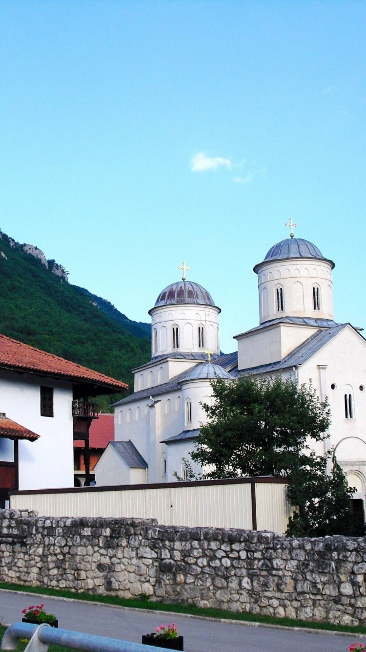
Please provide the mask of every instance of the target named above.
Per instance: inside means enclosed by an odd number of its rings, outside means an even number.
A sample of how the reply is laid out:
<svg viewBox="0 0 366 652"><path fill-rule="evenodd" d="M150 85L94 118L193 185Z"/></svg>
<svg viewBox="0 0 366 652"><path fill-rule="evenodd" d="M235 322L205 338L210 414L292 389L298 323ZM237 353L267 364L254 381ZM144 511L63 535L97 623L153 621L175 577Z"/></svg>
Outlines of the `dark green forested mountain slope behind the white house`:
<svg viewBox="0 0 366 652"><path fill-rule="evenodd" d="M5 233L0 238L0 333L125 381L132 389L130 369L150 359L149 325L68 284L53 273L55 267L62 269L59 265L42 263L40 250L32 255ZM42 256L36 258L38 252Z"/></svg>

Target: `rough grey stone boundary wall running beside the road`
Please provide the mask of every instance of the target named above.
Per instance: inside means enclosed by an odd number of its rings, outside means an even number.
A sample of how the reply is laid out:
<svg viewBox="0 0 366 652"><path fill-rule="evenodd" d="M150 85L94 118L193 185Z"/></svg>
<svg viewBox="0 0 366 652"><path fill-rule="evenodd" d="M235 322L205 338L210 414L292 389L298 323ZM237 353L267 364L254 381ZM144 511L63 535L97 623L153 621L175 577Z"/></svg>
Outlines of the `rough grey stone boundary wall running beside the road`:
<svg viewBox="0 0 366 652"><path fill-rule="evenodd" d="M0 581L365 625L366 538L0 510Z"/></svg>

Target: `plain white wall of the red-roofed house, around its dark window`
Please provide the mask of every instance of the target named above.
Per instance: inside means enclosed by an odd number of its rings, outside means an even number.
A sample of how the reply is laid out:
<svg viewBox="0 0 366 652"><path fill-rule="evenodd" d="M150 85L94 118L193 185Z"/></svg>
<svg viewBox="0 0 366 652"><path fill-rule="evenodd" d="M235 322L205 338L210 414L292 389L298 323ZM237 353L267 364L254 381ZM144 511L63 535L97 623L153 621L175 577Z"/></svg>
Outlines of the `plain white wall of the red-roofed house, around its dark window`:
<svg viewBox="0 0 366 652"><path fill-rule="evenodd" d="M53 417L40 416L40 385L54 388ZM0 406L9 419L40 435L19 442L19 488L74 486L72 385L31 374L1 372ZM7 445L8 448L8 445ZM0 455L3 446L0 447ZM8 458L8 452L7 452Z"/></svg>

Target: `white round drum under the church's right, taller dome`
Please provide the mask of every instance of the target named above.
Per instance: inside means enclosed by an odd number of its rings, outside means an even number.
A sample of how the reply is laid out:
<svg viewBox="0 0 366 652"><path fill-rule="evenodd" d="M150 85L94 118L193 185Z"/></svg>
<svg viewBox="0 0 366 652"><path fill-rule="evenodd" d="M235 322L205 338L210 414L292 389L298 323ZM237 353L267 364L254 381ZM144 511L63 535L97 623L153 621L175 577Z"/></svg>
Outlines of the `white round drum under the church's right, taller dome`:
<svg viewBox="0 0 366 652"><path fill-rule="evenodd" d="M314 310L313 287L320 289L320 310ZM276 288L283 288L284 310L277 311ZM259 321L276 317L333 319L331 264L314 259L263 263L258 271Z"/></svg>

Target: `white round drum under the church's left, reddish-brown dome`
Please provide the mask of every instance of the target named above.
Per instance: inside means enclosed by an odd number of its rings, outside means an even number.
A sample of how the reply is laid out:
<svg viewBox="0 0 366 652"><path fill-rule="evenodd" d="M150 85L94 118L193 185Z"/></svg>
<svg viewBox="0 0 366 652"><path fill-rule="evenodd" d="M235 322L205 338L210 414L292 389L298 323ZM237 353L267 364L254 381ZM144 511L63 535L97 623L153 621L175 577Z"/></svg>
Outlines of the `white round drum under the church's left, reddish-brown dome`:
<svg viewBox="0 0 366 652"><path fill-rule="evenodd" d="M219 308L192 304L171 304L152 310L152 357L169 353L199 353L207 346L219 353ZM178 348L173 348L173 326L178 326ZM204 345L199 346L199 326L204 327ZM157 349L154 346L157 331Z"/></svg>

